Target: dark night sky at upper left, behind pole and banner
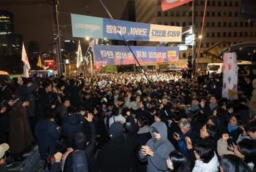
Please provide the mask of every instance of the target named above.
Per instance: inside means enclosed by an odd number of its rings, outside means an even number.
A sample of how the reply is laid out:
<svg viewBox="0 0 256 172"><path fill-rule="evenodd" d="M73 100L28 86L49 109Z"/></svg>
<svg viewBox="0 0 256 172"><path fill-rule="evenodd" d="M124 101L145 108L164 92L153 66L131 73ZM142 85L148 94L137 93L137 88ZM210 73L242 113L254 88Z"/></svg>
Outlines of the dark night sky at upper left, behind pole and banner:
<svg viewBox="0 0 256 172"><path fill-rule="evenodd" d="M1 0L8 1L8 0ZM0 2L1 2L0 1ZM9 0L9 1L37 1L37 0ZM41 0L42 1L42 0ZM60 0L60 31L71 36L71 16L74 14L87 14L95 17L106 17L107 12L102 8L99 0ZM119 19L125 8L127 0L104 0L113 18ZM28 41L38 41L41 52L51 50L53 32L51 23L51 8L49 5L41 6L0 6L0 10L8 10L14 14L15 33L23 34L27 49ZM61 37L64 39L72 39ZM83 41L83 39L80 39ZM85 41L84 41L85 42ZM82 43L85 48L85 43ZM28 50L27 50L28 51Z"/></svg>

